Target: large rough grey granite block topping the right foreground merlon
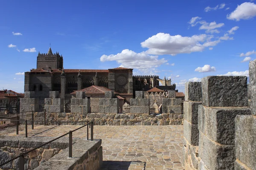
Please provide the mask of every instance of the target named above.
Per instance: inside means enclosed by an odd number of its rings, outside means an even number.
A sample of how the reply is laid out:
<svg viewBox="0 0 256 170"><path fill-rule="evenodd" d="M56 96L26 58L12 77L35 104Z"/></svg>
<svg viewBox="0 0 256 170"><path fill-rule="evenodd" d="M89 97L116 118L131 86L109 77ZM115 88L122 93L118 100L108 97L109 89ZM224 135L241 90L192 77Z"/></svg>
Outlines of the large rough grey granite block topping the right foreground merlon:
<svg viewBox="0 0 256 170"><path fill-rule="evenodd" d="M247 106L247 77L204 77L202 79L202 103L209 107Z"/></svg>

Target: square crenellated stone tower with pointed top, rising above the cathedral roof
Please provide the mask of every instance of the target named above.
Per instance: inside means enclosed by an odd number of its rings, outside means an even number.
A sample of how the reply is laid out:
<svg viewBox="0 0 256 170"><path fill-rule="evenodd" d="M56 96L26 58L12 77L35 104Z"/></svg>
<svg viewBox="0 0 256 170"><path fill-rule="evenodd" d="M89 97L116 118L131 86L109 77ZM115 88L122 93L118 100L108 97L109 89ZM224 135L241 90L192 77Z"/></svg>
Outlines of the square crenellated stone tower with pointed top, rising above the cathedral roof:
<svg viewBox="0 0 256 170"><path fill-rule="evenodd" d="M51 69L63 68L63 57L59 53L52 54L51 47L48 50L47 54L38 53L37 57L37 68L49 67Z"/></svg>

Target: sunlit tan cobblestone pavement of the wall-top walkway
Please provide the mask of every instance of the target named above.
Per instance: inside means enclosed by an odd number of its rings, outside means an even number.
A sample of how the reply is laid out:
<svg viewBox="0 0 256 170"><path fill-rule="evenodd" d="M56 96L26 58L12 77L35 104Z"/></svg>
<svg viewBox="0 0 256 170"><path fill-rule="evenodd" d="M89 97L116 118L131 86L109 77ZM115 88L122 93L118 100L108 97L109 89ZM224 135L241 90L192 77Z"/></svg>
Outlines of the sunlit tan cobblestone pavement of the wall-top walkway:
<svg viewBox="0 0 256 170"><path fill-rule="evenodd" d="M77 127L61 125L36 136L61 136ZM183 125L94 126L93 131L94 139L102 139L101 170L183 170ZM73 132L86 136L86 127Z"/></svg>

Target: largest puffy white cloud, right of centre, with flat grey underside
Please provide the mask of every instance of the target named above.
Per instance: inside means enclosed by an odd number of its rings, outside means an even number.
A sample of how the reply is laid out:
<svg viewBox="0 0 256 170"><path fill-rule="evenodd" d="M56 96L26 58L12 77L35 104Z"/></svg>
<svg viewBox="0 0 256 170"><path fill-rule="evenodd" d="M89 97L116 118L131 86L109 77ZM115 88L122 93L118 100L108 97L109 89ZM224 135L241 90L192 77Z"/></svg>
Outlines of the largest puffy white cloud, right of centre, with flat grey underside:
<svg viewBox="0 0 256 170"><path fill-rule="evenodd" d="M181 35L171 36L170 34L158 33L140 44L144 48L149 48L146 51L147 54L169 54L174 56L176 54L203 51L204 46L199 42L204 42L206 39L206 34L182 37Z"/></svg>

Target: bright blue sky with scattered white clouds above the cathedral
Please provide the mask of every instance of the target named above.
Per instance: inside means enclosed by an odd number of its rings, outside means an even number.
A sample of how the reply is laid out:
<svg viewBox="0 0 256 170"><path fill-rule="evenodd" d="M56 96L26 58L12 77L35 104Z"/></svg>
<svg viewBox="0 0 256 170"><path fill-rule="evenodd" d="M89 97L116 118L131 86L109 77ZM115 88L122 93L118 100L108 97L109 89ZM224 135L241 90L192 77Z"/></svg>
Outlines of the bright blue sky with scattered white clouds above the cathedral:
<svg viewBox="0 0 256 170"><path fill-rule="evenodd" d="M205 76L248 76L255 2L0 1L0 89L23 92L23 73L49 43L64 68L134 68L134 75L171 78L179 91Z"/></svg>

